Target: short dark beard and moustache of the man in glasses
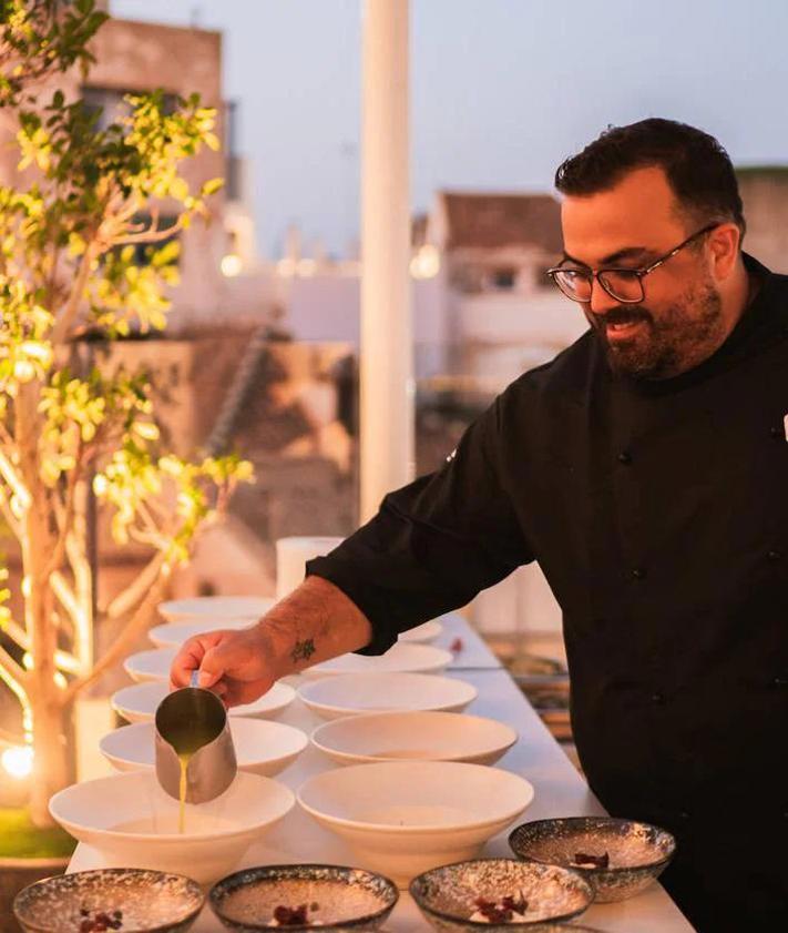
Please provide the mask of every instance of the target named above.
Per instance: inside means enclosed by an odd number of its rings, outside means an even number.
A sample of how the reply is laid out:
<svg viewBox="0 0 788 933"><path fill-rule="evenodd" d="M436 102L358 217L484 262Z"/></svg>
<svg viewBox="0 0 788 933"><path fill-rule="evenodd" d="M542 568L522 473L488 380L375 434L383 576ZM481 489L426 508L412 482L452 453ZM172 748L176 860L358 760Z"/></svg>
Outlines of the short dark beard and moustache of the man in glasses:
<svg viewBox="0 0 788 933"><path fill-rule="evenodd" d="M605 314L585 310L614 373L665 379L707 359L727 336L719 293L706 281L688 288L655 314L644 304L618 305ZM607 326L639 323L630 338L611 341Z"/></svg>

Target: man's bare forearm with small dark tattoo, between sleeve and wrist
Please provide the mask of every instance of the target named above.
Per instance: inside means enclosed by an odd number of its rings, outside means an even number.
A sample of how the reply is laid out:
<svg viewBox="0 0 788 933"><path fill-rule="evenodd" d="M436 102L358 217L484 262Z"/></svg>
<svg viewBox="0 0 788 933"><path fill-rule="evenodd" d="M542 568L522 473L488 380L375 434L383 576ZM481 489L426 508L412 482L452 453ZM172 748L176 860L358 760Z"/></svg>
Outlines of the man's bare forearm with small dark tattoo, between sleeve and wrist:
<svg viewBox="0 0 788 933"><path fill-rule="evenodd" d="M369 619L334 584L307 577L257 623L277 677L357 651L372 638Z"/></svg>

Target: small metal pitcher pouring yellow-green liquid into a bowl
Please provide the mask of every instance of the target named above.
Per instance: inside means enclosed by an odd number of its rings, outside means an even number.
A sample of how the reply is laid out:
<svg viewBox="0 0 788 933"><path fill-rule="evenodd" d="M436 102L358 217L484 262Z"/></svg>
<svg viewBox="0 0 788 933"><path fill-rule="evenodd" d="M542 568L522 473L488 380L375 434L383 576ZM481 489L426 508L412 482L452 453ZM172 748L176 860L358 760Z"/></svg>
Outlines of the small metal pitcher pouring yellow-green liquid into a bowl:
<svg viewBox="0 0 788 933"><path fill-rule="evenodd" d="M205 803L227 790L238 765L224 703L196 686L168 693L156 709L156 778L164 790L181 797L178 754L191 752L186 767L186 802Z"/></svg>

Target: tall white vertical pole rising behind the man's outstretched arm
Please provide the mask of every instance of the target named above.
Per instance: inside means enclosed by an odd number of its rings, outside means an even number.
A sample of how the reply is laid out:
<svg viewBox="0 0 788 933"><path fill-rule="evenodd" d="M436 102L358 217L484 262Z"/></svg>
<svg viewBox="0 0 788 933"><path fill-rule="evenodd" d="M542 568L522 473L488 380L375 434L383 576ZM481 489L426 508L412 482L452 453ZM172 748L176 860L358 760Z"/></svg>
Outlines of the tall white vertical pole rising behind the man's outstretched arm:
<svg viewBox="0 0 788 933"><path fill-rule="evenodd" d="M360 518L413 476L409 0L364 0Z"/></svg>

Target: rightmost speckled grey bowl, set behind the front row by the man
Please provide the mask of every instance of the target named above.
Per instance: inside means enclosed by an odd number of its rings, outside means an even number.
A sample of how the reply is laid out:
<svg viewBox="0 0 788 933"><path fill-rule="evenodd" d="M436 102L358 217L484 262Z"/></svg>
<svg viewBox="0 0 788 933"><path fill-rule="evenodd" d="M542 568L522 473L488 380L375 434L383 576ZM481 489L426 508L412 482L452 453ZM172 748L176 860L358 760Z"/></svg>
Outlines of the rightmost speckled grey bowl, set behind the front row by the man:
<svg viewBox="0 0 788 933"><path fill-rule="evenodd" d="M571 866L586 878L600 903L624 901L639 894L668 864L676 840L649 823L613 817L566 817L535 820L512 830L512 851L540 864ZM576 853L610 855L606 869L572 864Z"/></svg>

